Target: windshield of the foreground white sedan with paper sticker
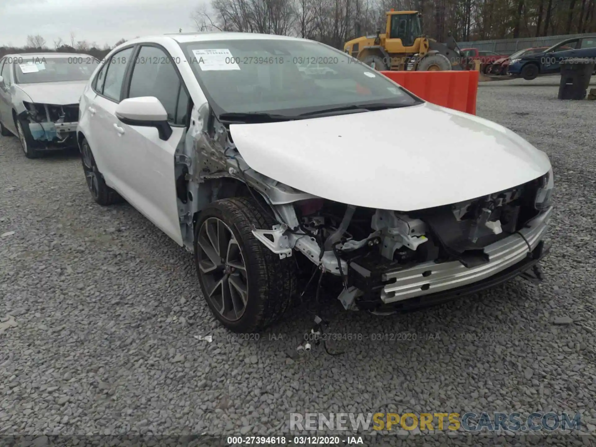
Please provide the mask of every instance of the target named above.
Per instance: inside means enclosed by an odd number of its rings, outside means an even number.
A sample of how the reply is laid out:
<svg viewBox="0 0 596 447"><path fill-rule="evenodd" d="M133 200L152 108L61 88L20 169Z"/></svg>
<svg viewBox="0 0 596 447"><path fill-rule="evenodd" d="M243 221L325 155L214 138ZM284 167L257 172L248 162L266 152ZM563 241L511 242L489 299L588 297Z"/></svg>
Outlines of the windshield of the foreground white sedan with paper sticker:
<svg viewBox="0 0 596 447"><path fill-rule="evenodd" d="M421 103L374 69L317 42L247 39L181 46L218 116Z"/></svg>

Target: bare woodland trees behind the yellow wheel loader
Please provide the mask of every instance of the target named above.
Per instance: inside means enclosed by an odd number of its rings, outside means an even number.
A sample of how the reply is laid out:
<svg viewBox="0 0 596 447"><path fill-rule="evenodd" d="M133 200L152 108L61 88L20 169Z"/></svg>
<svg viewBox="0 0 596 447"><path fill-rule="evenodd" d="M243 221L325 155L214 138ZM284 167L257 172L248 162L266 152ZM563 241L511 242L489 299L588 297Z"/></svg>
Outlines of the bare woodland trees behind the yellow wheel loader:
<svg viewBox="0 0 596 447"><path fill-rule="evenodd" d="M533 38L596 32L596 0L210 0L197 30L293 35L343 48L384 32L386 11L420 11L425 35L445 41Z"/></svg>

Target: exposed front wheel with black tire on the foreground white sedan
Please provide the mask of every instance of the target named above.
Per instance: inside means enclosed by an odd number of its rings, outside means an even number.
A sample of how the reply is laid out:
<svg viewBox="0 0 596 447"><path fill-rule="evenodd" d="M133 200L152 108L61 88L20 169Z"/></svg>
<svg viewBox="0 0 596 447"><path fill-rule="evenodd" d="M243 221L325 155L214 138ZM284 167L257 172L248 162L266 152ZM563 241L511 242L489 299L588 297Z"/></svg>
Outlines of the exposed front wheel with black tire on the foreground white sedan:
<svg viewBox="0 0 596 447"><path fill-rule="evenodd" d="M226 328L259 332L290 306L296 288L295 262L280 259L252 233L275 221L253 198L217 200L195 226L194 257L207 305Z"/></svg>

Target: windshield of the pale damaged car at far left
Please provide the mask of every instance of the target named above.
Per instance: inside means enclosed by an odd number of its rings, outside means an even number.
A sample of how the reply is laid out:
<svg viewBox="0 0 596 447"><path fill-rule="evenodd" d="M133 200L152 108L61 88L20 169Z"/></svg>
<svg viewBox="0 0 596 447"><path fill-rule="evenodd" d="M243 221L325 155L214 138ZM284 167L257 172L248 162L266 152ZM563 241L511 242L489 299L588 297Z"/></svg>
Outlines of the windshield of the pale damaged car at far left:
<svg viewBox="0 0 596 447"><path fill-rule="evenodd" d="M61 80L88 80L98 65L91 56L19 58L14 66L17 83L57 82Z"/></svg>

